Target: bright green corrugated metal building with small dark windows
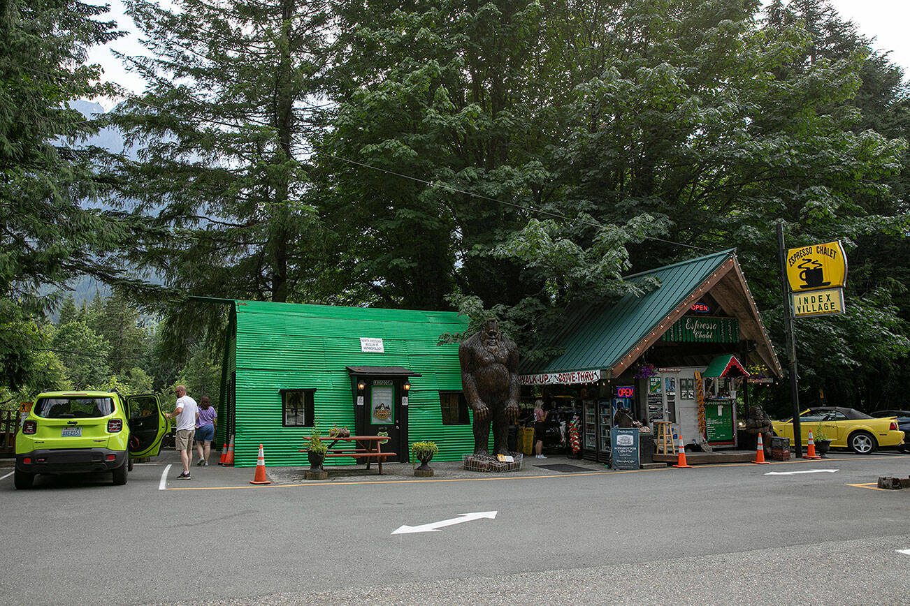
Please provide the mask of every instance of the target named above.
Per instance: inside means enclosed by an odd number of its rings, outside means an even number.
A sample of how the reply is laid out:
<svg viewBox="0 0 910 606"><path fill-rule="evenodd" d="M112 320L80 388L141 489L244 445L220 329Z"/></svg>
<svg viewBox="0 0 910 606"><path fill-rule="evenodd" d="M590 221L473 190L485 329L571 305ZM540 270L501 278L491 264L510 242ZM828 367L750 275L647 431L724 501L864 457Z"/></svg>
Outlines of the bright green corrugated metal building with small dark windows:
<svg viewBox="0 0 910 606"><path fill-rule="evenodd" d="M467 319L419 312L254 301L230 302L217 444L235 435L235 464L303 465L313 422L389 433L383 451L408 461L410 444L437 442L440 461L473 448L457 344ZM410 392L404 386L410 383ZM359 389L359 384L363 385ZM351 464L352 459L334 459ZM327 462L328 464L329 462Z"/></svg>

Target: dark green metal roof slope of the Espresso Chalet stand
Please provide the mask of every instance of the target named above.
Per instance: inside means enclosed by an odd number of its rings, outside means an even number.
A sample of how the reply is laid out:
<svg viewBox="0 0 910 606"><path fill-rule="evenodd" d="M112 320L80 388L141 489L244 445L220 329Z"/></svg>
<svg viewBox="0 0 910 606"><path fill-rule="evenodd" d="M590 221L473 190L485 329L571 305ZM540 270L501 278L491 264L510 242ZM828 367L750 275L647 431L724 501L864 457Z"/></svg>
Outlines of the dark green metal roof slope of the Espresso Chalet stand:
<svg viewBox="0 0 910 606"><path fill-rule="evenodd" d="M571 307L561 330L551 340L551 345L563 348L564 353L550 361L522 364L521 374L612 368L731 257L733 249L635 273L625 280L643 283L656 278L660 286L642 296L627 294L614 305Z"/></svg>

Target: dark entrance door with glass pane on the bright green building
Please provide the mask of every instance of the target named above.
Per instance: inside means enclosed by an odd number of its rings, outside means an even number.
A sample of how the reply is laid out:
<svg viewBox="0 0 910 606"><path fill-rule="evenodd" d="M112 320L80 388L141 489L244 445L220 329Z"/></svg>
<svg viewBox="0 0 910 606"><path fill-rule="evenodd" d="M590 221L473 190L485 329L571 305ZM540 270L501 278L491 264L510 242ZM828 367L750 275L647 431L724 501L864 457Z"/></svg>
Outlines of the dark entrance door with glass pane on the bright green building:
<svg viewBox="0 0 910 606"><path fill-rule="evenodd" d="M370 379L365 393L363 426L370 435L389 436L382 450L396 456L387 462L408 461L408 407L402 405L401 384L399 379Z"/></svg>

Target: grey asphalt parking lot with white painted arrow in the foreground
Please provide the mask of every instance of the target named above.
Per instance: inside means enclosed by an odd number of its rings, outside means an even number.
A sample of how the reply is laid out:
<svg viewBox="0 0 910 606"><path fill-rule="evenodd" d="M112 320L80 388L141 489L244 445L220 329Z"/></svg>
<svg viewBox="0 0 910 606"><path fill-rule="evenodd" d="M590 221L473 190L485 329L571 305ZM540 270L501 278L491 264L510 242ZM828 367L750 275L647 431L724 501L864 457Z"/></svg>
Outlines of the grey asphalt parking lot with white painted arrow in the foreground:
<svg viewBox="0 0 910 606"><path fill-rule="evenodd" d="M900 552L910 550L910 491L874 488L878 475L910 473L903 454L639 472L552 457L489 475L434 462L428 479L399 464L384 465L382 476L339 470L327 482L275 468L265 487L248 483L252 468L194 468L193 480L177 481L176 462L167 452L138 464L126 486L106 474L41 477L19 492L12 478L0 480L0 553L15 562L0 601L767 603L802 591L817 598L810 603L867 603L876 588L872 601L901 603L910 595L910 555ZM535 466L554 463L585 471ZM465 519L478 513L488 515ZM395 533L402 527L427 531Z"/></svg>

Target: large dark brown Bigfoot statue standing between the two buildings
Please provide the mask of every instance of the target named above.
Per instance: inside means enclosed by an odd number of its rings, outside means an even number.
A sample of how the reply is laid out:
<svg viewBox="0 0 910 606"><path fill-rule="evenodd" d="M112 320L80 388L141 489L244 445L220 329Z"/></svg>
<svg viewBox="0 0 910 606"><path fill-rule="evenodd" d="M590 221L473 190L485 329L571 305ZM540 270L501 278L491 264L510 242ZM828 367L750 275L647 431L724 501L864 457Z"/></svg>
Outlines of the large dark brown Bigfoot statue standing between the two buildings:
<svg viewBox="0 0 910 606"><path fill-rule="evenodd" d="M495 320L483 324L458 349L461 385L474 411L474 454L487 454L490 423L493 453L508 454L509 423L518 419L518 349Z"/></svg>

